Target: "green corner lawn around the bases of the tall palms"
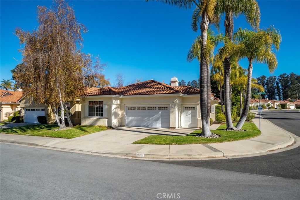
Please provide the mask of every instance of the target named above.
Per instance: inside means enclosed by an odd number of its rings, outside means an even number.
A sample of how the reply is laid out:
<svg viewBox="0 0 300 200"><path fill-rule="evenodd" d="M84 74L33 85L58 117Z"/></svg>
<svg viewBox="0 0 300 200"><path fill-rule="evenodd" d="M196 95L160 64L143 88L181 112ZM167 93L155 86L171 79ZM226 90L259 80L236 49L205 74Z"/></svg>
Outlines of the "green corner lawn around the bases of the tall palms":
<svg viewBox="0 0 300 200"><path fill-rule="evenodd" d="M233 123L234 125L236 123ZM148 136L144 139L134 142L134 144L151 144L151 145L185 145L185 144L205 144L217 142L230 142L242 139L249 139L260 135L259 129L254 123L245 122L242 127L246 131L225 131L226 124L222 124L217 130L211 130L211 133L220 135L219 138L202 138L196 137L201 130L195 130L187 136Z"/></svg>

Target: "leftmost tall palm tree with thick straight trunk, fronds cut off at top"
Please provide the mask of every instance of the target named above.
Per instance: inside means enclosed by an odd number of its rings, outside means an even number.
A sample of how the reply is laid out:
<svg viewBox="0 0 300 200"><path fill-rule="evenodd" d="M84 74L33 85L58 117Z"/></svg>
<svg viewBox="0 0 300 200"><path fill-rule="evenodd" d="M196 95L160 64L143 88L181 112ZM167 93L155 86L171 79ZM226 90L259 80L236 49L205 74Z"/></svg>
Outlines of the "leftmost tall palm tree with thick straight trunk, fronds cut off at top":
<svg viewBox="0 0 300 200"><path fill-rule="evenodd" d="M210 48L207 42L208 26L209 23L214 23L219 20L218 16L214 14L214 9L217 0L163 0L161 2L177 6L181 9L190 9L194 5L196 8L192 16L192 29L198 30L198 25L201 30L201 37L198 41L201 41L201 49L199 56L196 56L200 60L200 111L202 121L202 133L201 135L208 137L211 135L209 129L210 121L210 102L211 102L211 90L210 90L210 65L209 62ZM201 39L201 40L200 40ZM197 40L197 39L196 39ZM199 57L199 58L198 58Z"/></svg>

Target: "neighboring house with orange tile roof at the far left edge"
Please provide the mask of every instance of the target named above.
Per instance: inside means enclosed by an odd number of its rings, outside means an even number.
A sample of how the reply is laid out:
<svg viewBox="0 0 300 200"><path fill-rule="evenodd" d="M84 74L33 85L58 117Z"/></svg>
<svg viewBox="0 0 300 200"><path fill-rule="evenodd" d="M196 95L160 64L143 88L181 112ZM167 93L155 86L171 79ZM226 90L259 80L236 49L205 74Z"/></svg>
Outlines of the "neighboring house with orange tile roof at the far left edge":
<svg viewBox="0 0 300 200"><path fill-rule="evenodd" d="M20 110L20 101L23 98L22 91L6 91L0 90L0 120L7 120L5 115L13 115L14 112Z"/></svg>

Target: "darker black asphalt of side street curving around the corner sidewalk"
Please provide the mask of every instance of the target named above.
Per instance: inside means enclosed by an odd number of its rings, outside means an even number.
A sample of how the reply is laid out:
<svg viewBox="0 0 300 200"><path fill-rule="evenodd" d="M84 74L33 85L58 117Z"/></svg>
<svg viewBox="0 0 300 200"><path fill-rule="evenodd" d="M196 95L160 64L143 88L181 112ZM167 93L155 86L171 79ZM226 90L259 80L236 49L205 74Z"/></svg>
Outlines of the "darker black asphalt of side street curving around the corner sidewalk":
<svg viewBox="0 0 300 200"><path fill-rule="evenodd" d="M300 137L299 110L265 111L261 116ZM275 154L247 158L155 162L300 179L300 147Z"/></svg>

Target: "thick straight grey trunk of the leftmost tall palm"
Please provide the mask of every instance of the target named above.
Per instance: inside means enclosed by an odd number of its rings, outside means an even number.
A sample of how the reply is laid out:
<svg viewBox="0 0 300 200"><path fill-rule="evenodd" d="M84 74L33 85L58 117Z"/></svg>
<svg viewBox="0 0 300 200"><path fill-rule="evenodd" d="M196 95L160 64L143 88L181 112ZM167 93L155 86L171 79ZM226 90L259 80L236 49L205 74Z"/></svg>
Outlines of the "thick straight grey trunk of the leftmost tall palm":
<svg viewBox="0 0 300 200"><path fill-rule="evenodd" d="M201 62L200 62L200 111L201 111L201 122L202 122L202 132L201 135L208 137L211 135L210 129L209 129L209 117L210 117L210 111L208 112L208 109L210 109L210 88L208 89L208 86L210 87L210 82L208 85L208 70L209 66L207 66L207 60L204 55L204 50L206 47L206 40L207 40L207 29L208 29L208 16L206 13L202 14L202 21L200 24L201 28L201 40L202 40L202 49L201 49ZM210 76L210 73L209 73ZM210 77L209 77L210 80ZM208 92L209 92L209 106L208 106Z"/></svg>

